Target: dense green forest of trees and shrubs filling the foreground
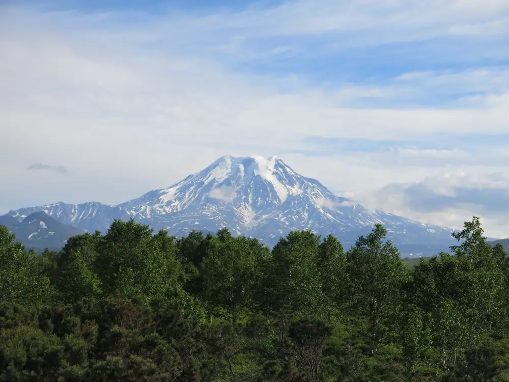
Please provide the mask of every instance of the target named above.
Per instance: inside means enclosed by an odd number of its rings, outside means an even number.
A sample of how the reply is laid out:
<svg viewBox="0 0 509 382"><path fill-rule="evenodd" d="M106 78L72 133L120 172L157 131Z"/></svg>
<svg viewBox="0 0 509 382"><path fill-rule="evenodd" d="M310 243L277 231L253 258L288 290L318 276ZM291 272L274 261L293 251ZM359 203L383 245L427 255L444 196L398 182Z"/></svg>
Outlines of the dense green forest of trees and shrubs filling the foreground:
<svg viewBox="0 0 509 382"><path fill-rule="evenodd" d="M509 264L477 217L412 269L375 225L176 238L134 221L27 251L0 226L2 381L509 381Z"/></svg>

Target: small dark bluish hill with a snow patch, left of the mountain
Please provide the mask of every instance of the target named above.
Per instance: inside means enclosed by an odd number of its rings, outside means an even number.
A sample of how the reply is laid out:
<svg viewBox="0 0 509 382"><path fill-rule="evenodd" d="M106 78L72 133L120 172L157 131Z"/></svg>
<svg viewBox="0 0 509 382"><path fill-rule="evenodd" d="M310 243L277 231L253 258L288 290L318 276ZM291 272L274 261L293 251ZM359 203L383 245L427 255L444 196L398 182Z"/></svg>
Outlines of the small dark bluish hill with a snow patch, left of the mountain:
<svg viewBox="0 0 509 382"><path fill-rule="evenodd" d="M21 241L26 249L36 251L48 248L60 250L67 239L84 231L62 224L46 213L39 211L26 216L25 219L11 229L16 240Z"/></svg>

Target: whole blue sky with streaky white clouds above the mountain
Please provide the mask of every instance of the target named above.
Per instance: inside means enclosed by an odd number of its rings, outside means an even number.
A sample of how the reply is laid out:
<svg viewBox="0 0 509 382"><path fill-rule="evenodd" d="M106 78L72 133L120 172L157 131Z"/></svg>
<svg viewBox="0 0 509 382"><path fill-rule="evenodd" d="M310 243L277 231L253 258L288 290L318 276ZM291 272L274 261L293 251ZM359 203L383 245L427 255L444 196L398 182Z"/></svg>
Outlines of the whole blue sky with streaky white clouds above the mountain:
<svg viewBox="0 0 509 382"><path fill-rule="evenodd" d="M506 0L4 2L0 213L276 154L371 208L509 236L507 41Z"/></svg>

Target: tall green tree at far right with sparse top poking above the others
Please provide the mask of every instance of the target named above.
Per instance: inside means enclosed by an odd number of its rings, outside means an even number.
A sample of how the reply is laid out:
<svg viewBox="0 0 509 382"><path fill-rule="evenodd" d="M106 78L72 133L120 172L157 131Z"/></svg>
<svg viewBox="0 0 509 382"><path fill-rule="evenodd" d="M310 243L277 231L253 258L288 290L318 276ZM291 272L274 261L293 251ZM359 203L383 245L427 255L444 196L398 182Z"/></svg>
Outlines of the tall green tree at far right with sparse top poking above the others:
<svg viewBox="0 0 509 382"><path fill-rule="evenodd" d="M454 255L438 257L415 268L408 285L407 304L427 312L436 362L444 371L455 367L467 349L484 337L503 335L507 288L500 248L486 242L479 219L465 222L453 233L461 244Z"/></svg>

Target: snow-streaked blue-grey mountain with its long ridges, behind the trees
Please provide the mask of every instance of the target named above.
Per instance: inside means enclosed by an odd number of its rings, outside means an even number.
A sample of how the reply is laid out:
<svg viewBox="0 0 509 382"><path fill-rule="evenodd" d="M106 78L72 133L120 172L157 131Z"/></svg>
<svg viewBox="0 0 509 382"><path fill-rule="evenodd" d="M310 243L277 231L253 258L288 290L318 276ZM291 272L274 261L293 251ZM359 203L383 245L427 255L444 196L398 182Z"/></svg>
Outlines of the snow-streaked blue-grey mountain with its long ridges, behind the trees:
<svg viewBox="0 0 509 382"><path fill-rule="evenodd" d="M56 203L8 215L19 220L35 211L91 232L105 231L115 219L133 217L177 236L192 229L228 227L233 234L274 244L291 230L311 229L322 235L331 233L349 247L374 224L382 223L404 254L436 253L453 242L449 229L369 211L332 194L317 180L297 174L275 156L224 156L168 188L117 206Z"/></svg>

